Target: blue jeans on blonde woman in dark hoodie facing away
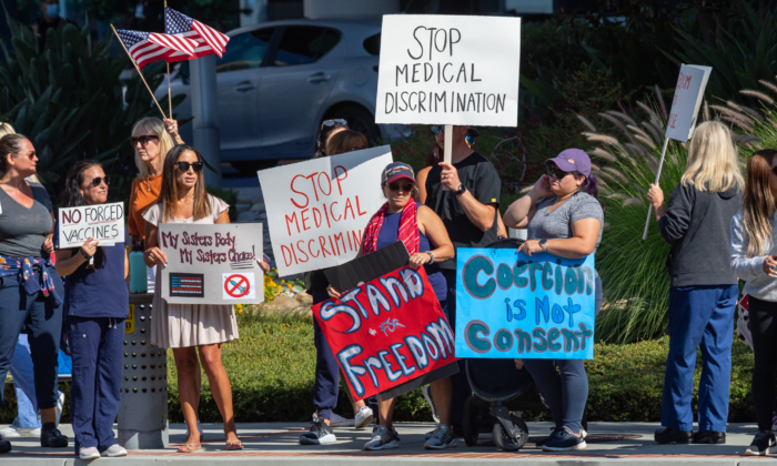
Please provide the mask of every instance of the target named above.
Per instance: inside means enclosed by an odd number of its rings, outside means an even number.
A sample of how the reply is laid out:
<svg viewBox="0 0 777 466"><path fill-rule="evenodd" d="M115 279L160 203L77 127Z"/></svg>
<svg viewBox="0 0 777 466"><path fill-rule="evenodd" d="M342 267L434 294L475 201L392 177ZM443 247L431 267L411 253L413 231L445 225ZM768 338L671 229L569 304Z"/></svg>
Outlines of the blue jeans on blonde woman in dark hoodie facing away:
<svg viewBox="0 0 777 466"><path fill-rule="evenodd" d="M731 381L731 342L737 285L669 290L669 354L666 358L662 425L692 430L696 348L702 350L699 430L726 432ZM774 383L774 382L773 382Z"/></svg>

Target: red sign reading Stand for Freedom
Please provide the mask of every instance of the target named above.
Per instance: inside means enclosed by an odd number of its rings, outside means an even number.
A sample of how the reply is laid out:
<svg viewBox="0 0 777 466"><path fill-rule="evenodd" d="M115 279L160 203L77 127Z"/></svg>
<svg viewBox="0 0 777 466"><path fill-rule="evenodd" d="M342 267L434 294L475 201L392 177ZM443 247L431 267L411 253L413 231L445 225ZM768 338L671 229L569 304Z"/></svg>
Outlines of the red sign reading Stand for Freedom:
<svg viewBox="0 0 777 466"><path fill-rule="evenodd" d="M453 331L426 272L403 267L313 306L354 399L454 361Z"/></svg>

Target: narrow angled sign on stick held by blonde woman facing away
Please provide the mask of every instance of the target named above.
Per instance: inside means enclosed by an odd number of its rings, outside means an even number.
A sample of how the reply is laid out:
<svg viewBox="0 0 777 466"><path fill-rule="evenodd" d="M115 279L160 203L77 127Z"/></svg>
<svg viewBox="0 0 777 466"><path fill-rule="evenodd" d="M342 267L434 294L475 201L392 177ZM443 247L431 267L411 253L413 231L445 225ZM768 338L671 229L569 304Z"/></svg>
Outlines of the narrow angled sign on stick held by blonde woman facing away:
<svg viewBox="0 0 777 466"><path fill-rule="evenodd" d="M666 125L666 138L683 142L690 139L694 128L696 128L696 115L699 107L702 107L704 90L707 88L707 81L712 72L713 69L710 67L696 64L684 64L680 67L677 85L675 87L675 97L672 100L669 121Z"/></svg>

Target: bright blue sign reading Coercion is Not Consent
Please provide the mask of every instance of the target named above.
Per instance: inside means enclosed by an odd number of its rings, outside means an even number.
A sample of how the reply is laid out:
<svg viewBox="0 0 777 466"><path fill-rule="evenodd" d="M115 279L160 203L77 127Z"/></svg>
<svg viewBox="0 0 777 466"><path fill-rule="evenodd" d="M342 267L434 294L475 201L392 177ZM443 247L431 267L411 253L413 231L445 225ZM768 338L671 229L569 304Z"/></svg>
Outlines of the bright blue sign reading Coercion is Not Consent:
<svg viewBox="0 0 777 466"><path fill-rule="evenodd" d="M456 356L594 357L594 256L458 249Z"/></svg>

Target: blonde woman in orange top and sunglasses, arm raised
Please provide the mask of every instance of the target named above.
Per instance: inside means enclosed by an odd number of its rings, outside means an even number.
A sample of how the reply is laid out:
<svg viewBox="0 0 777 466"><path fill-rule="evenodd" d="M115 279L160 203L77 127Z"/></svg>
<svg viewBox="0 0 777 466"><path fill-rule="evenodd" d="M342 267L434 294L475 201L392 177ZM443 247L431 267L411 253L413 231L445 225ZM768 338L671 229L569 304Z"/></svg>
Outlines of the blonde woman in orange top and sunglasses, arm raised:
<svg viewBox="0 0 777 466"><path fill-rule="evenodd" d="M145 240L143 212L157 203L162 191L164 155L174 145L183 144L183 140L178 134L175 120L160 120L149 116L138 121L132 126L130 142L135 152L135 165L139 174L132 182L130 203L127 209L127 229L133 241L143 241ZM154 292L155 272L155 267L149 267L147 272L149 293Z"/></svg>

